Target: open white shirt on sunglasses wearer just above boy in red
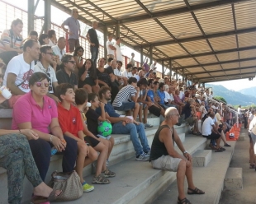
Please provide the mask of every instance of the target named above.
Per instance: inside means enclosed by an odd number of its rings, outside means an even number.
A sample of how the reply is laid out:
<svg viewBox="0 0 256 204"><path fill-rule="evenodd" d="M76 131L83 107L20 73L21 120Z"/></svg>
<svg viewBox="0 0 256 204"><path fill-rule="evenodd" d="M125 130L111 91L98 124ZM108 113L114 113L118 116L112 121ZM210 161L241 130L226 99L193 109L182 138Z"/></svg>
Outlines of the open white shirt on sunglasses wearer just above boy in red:
<svg viewBox="0 0 256 204"><path fill-rule="evenodd" d="M43 67L42 63L38 62L35 65L34 72L42 72L45 73L48 78L50 79L50 86L49 86L49 93L52 94L54 93L54 87L53 87L53 82L58 82L56 73L53 67L49 66L47 70Z"/></svg>

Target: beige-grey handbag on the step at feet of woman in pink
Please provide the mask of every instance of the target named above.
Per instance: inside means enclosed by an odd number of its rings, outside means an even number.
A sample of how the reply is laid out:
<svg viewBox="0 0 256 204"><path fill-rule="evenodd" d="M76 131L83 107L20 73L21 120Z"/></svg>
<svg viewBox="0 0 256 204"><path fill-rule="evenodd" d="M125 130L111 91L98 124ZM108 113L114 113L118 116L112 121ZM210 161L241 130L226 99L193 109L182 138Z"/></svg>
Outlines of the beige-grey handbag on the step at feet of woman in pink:
<svg viewBox="0 0 256 204"><path fill-rule="evenodd" d="M73 201L83 195L83 187L75 171L69 173L55 171L51 174L49 186L54 189L62 190L62 193L56 199L58 202Z"/></svg>

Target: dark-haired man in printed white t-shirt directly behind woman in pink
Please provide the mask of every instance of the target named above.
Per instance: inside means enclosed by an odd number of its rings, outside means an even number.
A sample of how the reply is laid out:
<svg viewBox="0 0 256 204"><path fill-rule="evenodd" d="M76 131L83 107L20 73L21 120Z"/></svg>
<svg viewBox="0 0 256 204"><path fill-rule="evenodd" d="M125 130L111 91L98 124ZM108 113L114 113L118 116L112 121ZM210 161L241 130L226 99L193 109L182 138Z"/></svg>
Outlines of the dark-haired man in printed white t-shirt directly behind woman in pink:
<svg viewBox="0 0 256 204"><path fill-rule="evenodd" d="M23 52L8 63L3 77L3 85L12 92L12 97L8 101L10 108L21 95L31 90L28 81L34 73L35 60L39 58L38 42L35 39L28 39L23 46Z"/></svg>

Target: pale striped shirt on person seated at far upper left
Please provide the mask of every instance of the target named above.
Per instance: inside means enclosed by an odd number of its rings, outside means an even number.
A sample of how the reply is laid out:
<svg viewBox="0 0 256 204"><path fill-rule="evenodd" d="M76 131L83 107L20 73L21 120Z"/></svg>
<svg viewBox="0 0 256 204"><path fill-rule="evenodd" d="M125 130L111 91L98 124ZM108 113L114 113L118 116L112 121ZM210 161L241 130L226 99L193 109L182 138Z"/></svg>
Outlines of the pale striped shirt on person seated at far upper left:
<svg viewBox="0 0 256 204"><path fill-rule="evenodd" d="M11 35L12 30L3 30L0 39L0 53L5 52L5 44L10 44L12 49L21 49L22 37L21 35Z"/></svg>

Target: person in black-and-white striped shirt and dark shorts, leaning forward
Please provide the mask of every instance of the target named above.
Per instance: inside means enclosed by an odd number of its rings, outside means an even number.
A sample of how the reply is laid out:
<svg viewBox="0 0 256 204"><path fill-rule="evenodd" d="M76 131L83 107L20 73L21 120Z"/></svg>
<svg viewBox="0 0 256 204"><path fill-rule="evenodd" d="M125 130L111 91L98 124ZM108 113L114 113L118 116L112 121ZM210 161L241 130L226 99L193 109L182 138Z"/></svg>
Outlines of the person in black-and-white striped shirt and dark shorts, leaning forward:
<svg viewBox="0 0 256 204"><path fill-rule="evenodd" d="M137 87L137 80L134 77L130 77L128 79L128 85L122 87L116 95L113 101L114 109L121 111L134 109L133 118L136 120L140 109L140 104L137 103L139 94L140 89Z"/></svg>

